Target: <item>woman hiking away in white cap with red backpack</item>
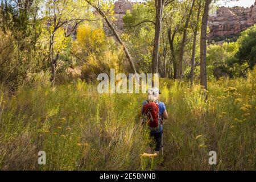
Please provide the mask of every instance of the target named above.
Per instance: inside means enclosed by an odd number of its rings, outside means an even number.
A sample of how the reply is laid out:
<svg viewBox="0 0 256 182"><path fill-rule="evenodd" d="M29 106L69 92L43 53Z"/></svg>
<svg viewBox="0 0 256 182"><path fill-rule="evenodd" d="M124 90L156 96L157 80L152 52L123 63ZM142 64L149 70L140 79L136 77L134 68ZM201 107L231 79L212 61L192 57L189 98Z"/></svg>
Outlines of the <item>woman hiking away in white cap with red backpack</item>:
<svg viewBox="0 0 256 182"><path fill-rule="evenodd" d="M142 103L142 118L143 123L147 123L150 127L150 137L155 143L155 152L159 155L161 140L163 135L163 118L168 119L166 105L159 101L158 88L148 89L148 100Z"/></svg>

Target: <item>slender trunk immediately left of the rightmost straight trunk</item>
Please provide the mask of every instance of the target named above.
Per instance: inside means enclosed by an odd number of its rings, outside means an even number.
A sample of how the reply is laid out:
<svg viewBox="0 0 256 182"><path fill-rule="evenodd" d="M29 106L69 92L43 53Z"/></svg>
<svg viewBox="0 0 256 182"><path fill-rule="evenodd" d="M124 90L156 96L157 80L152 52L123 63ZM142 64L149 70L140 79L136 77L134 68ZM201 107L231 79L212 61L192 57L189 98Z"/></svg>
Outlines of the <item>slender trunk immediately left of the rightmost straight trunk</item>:
<svg viewBox="0 0 256 182"><path fill-rule="evenodd" d="M196 36L197 36L197 31L199 27L199 18L201 14L201 4L199 5L199 9L197 11L197 20L196 20L196 27L194 30L194 38L193 38L193 48L192 48L192 58L191 58L191 86L193 86L194 82L194 68L195 68L195 54L196 54Z"/></svg>

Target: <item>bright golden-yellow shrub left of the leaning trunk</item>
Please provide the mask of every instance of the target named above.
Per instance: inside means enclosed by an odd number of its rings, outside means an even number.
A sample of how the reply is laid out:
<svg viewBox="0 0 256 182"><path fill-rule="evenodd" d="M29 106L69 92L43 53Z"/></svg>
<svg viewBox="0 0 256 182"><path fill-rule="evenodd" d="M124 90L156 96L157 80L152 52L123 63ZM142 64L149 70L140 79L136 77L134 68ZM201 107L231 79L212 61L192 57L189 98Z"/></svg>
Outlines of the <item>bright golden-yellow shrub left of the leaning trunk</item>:
<svg viewBox="0 0 256 182"><path fill-rule="evenodd" d="M111 68L122 71L123 50L113 38L105 36L102 28L88 24L79 27L72 48L80 59L81 78L85 81L96 81L100 73L109 73Z"/></svg>

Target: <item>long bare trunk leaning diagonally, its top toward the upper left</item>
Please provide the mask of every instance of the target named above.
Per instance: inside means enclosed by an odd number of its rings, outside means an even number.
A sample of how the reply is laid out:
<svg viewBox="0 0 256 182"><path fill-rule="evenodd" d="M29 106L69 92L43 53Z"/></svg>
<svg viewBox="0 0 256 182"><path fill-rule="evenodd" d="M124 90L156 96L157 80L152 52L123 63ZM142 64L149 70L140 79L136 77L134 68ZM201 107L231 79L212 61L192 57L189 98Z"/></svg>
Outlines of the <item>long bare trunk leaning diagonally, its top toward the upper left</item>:
<svg viewBox="0 0 256 182"><path fill-rule="evenodd" d="M96 9L96 11L102 16L102 18L104 18L105 22L108 24L110 30L112 30L115 38L117 39L117 41L119 42L119 44L121 44L121 46L123 47L123 51L125 51L125 55L129 61L130 67L131 69L133 69L133 73L137 73L134 63L133 63L133 59L131 58L131 55L128 51L128 49L125 46L125 43L122 42L122 39L119 37L119 35L117 34L117 31L115 30L115 28L113 27L112 23L110 23L108 17L105 15L105 13L103 11L101 11L101 9L97 6L94 6L92 2L90 2L89 0L85 0L86 2L89 3L90 6L92 6L94 9Z"/></svg>

